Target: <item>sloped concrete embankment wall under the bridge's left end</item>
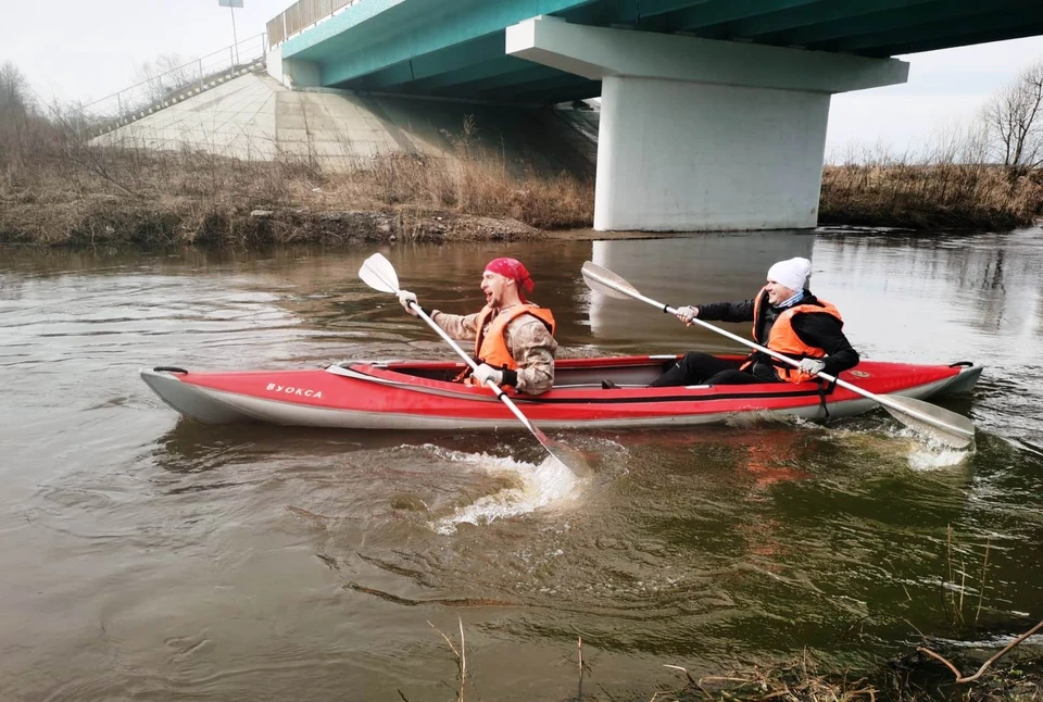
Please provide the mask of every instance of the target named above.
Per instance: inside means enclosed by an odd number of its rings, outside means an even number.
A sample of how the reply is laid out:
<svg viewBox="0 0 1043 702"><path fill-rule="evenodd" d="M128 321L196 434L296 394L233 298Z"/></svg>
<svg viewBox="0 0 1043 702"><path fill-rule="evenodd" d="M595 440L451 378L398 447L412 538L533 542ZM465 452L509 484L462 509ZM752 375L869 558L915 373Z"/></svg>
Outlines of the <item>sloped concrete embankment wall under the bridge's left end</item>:
<svg viewBox="0 0 1043 702"><path fill-rule="evenodd" d="M344 90L290 90L267 75L229 80L95 139L239 159L303 159L332 170L393 152L455 158L483 149L505 167L592 177L598 112L497 106ZM465 127L465 121L468 127Z"/></svg>

